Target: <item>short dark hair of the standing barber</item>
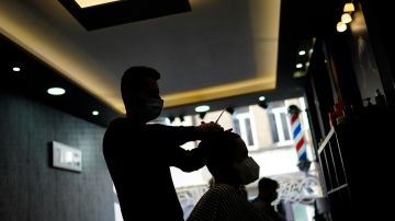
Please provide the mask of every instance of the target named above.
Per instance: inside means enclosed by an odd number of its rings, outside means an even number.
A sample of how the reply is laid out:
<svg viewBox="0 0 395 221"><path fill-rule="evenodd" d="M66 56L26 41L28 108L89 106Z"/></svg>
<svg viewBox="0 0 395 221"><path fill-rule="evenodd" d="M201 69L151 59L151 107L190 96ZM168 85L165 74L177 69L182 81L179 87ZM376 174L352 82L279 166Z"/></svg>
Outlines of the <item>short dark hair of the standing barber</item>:
<svg viewBox="0 0 395 221"><path fill-rule="evenodd" d="M126 101L127 92L140 90L145 78L159 80L160 73L154 68L146 66L132 66L126 69L121 80L121 93L124 102Z"/></svg>

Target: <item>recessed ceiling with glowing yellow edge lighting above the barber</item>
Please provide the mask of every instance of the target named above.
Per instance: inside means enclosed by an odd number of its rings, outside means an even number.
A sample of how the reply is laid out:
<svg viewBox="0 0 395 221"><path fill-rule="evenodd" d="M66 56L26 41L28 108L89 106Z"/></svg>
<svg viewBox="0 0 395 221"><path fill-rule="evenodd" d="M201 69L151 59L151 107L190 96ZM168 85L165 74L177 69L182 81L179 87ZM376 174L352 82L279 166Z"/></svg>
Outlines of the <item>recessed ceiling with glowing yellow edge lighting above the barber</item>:
<svg viewBox="0 0 395 221"><path fill-rule="evenodd" d="M106 26L89 30L59 1L1 0L0 33L117 114L124 113L123 71L154 67L161 73L163 113L184 115L198 104L219 109L256 103L259 95L303 94L301 79L292 79L296 53L331 22L329 2L190 0L187 11L122 24L97 19Z"/></svg>

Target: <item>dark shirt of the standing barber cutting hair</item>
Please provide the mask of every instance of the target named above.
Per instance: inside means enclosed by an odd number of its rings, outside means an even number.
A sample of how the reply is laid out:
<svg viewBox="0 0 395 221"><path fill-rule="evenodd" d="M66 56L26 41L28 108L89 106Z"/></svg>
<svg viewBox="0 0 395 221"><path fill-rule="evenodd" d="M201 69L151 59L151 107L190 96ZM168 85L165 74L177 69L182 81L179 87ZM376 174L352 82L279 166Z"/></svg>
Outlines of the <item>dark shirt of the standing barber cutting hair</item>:
<svg viewBox="0 0 395 221"><path fill-rule="evenodd" d="M185 172L201 168L202 150L180 148L196 139L194 127L134 125L127 118L110 124L103 154L125 221L183 220L169 166Z"/></svg>

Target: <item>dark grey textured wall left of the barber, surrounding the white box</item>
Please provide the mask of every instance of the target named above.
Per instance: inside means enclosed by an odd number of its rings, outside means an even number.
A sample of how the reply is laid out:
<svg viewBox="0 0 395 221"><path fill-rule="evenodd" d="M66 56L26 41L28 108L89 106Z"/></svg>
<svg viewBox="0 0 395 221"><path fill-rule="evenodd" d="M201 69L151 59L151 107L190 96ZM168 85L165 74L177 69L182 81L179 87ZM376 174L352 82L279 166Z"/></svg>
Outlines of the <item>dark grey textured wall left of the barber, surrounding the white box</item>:
<svg viewBox="0 0 395 221"><path fill-rule="evenodd" d="M112 182L101 152L104 128L0 92L0 220L114 220ZM49 166L50 141L82 151L82 172Z"/></svg>

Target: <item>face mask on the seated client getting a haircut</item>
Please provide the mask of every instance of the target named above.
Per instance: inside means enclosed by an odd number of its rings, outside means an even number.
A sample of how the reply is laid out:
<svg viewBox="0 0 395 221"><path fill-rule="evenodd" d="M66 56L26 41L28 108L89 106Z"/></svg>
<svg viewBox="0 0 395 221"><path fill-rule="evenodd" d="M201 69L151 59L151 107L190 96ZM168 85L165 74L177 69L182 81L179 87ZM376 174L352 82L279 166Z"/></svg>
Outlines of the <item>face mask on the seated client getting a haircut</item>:
<svg viewBox="0 0 395 221"><path fill-rule="evenodd" d="M241 163L236 164L235 167L239 174L241 183L245 185L259 178L259 165L251 156L248 156L241 161Z"/></svg>

